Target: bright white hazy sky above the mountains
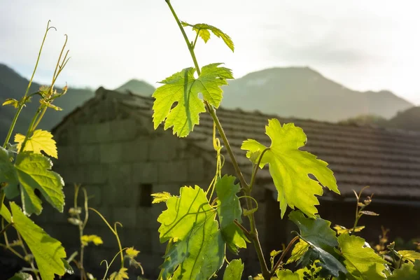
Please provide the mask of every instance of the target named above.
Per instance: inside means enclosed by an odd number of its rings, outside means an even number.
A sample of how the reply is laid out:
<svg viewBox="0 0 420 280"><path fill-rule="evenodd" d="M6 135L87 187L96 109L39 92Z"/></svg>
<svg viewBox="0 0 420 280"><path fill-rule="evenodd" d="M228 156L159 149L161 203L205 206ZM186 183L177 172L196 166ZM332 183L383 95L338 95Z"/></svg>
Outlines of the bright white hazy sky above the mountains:
<svg viewBox="0 0 420 280"><path fill-rule="evenodd" d="M391 90L420 104L420 5L412 0L172 0L179 18L229 34L200 42L200 65L225 62L239 78L273 66L310 66L354 90ZM153 85L193 66L164 0L0 0L0 62L29 77L48 20L36 74L48 83L69 35L60 83L114 88L130 78ZM193 33L188 33L193 36Z"/></svg>

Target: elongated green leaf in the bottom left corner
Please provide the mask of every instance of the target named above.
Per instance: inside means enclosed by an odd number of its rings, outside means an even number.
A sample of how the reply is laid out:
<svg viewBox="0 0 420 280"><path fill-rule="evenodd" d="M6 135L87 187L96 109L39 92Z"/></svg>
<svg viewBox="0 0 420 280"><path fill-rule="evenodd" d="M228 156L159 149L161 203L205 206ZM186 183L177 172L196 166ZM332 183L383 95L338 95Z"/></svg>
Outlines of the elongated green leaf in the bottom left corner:
<svg viewBox="0 0 420 280"><path fill-rule="evenodd" d="M3 211L1 207L1 211ZM66 258L66 251L62 244L38 227L20 210L15 202L10 202L12 210L13 226L25 240L27 246L34 255L36 265L42 279L54 279L54 274L64 275L66 267L62 258Z"/></svg>

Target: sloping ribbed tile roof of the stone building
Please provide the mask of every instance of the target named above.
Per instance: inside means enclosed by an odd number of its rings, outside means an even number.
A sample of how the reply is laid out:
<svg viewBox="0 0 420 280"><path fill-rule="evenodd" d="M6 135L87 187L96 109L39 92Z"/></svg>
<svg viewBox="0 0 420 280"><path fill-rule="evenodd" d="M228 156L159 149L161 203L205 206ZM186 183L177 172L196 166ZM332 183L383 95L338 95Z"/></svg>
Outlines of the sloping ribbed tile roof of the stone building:
<svg viewBox="0 0 420 280"><path fill-rule="evenodd" d="M116 99L126 109L136 110L136 113L143 116L152 116L151 97L120 94L103 88L97 94ZM302 127L307 134L307 145L301 149L328 162L342 196L353 196L353 189L360 190L364 186L370 186L368 193L374 193L377 197L420 201L419 132L281 118L257 111L223 108L217 110L217 115L244 174L251 171L251 163L240 149L242 141L255 139L269 146L265 125L269 118L277 118L281 123L295 123ZM212 130L211 116L202 113L200 125L195 126L187 139L190 144L214 153L211 144ZM229 161L227 155L225 158ZM259 183L272 185L267 168L262 169L258 177Z"/></svg>

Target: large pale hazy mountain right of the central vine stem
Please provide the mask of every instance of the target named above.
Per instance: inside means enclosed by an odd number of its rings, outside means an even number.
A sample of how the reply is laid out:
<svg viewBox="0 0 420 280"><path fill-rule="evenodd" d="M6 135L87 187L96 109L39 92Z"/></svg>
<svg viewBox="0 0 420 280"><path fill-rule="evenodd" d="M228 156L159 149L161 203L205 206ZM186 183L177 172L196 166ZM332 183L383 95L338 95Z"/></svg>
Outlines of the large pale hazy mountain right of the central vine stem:
<svg viewBox="0 0 420 280"><path fill-rule="evenodd" d="M284 117L339 121L360 115L391 118L413 104L392 92L358 92L308 67L248 73L223 87L222 106Z"/></svg>

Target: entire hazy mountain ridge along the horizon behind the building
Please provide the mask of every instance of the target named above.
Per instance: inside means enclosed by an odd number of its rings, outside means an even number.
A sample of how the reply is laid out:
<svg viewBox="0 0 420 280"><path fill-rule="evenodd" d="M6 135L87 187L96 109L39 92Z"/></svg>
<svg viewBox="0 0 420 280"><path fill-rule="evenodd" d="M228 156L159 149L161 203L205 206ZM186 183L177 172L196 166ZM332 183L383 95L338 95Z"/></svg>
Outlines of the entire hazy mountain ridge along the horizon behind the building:
<svg viewBox="0 0 420 280"><path fill-rule="evenodd" d="M27 84L26 78L10 67L0 64L0 103L7 98L19 100L25 93ZM39 87L40 84L32 83L29 92L35 92ZM143 80L133 79L116 90L151 96L155 87ZM283 117L293 116L330 122L360 115L388 119L399 111L413 107L411 103L392 92L350 90L307 67L272 68L248 73L237 80L230 80L230 85L224 86L223 90L225 92L222 106L225 108L259 110ZM73 88L69 84L67 94L55 101L55 105L62 107L63 111L47 111L40 128L50 130L66 114L93 96L92 90ZM38 97L34 97L33 101L22 110L16 132L22 133L27 130L27 125L37 107ZM0 106L0 136L6 135L14 114L15 109L12 106Z"/></svg>

